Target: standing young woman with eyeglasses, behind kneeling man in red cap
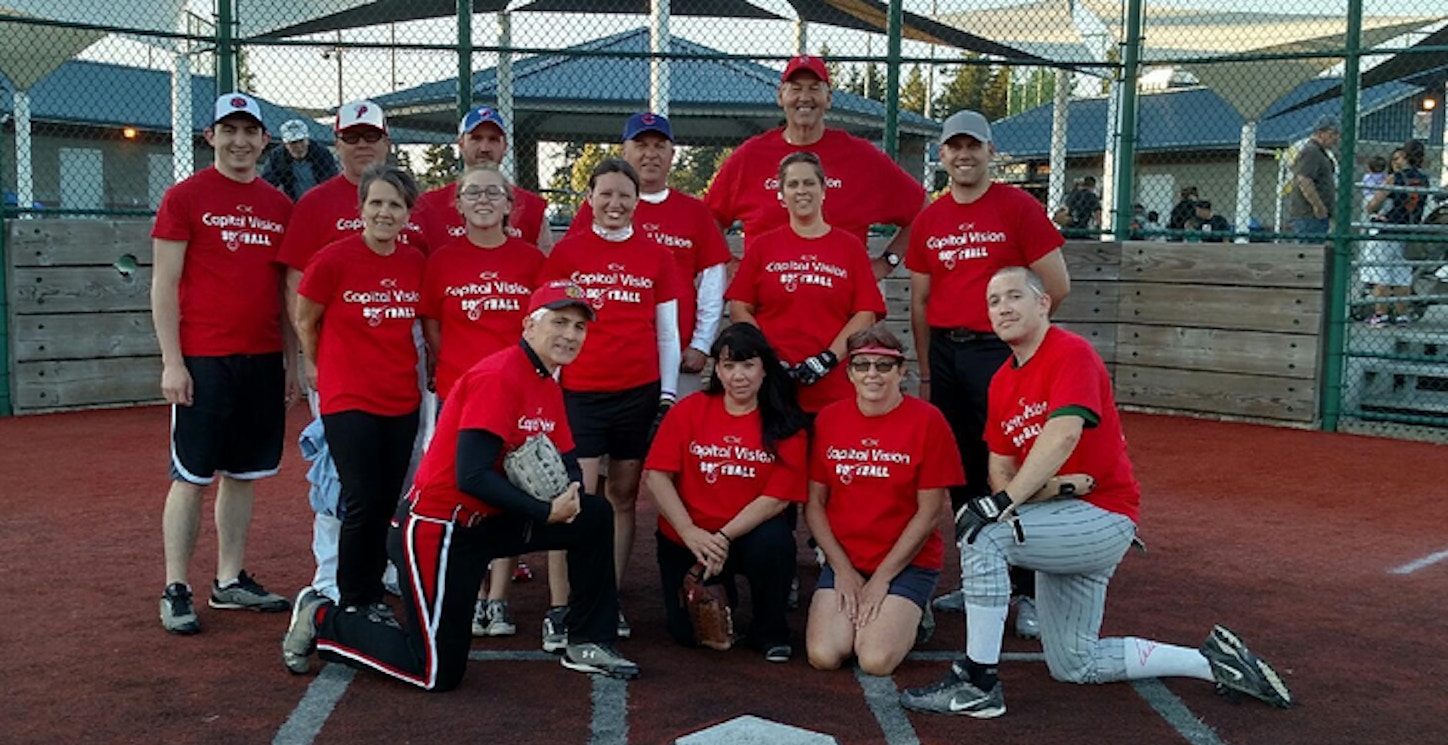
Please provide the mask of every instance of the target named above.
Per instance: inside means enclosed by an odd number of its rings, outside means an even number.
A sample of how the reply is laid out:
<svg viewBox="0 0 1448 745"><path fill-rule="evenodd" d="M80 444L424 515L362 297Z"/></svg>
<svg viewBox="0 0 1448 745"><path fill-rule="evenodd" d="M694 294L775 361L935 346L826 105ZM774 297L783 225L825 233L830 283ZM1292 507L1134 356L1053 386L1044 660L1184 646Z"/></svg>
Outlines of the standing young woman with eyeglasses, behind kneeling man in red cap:
<svg viewBox="0 0 1448 745"><path fill-rule="evenodd" d="M468 166L455 187L453 205L463 234L427 257L423 279L423 334L433 352L432 379L439 411L453 383L478 360L517 346L529 295L537 286L543 252L508 234L514 188L494 163ZM511 637L517 623L508 587L517 557L497 558L488 589L478 597L475 637ZM563 596L559 603L566 605Z"/></svg>

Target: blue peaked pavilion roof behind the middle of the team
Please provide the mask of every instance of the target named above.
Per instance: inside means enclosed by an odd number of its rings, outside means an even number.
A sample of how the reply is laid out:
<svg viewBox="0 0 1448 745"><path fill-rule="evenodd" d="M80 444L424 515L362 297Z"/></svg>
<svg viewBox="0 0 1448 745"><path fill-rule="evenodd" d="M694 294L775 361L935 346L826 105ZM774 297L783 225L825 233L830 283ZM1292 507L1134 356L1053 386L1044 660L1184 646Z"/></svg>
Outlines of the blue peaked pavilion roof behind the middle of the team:
<svg viewBox="0 0 1448 745"><path fill-rule="evenodd" d="M672 38L672 54L723 55L718 49ZM573 52L613 52L636 56L578 56ZM534 55L513 64L515 101L546 104L615 104L636 110L649 101L649 30L634 29L553 54ZM670 110L679 108L775 108L779 69L747 59L675 59L669 65ZM498 95L497 68L472 74L473 98L492 101ZM374 98L388 111L400 107L450 106L458 93L456 78L427 82ZM883 122L885 104L862 95L834 91L833 111ZM902 129L919 135L940 132L940 124L901 111Z"/></svg>

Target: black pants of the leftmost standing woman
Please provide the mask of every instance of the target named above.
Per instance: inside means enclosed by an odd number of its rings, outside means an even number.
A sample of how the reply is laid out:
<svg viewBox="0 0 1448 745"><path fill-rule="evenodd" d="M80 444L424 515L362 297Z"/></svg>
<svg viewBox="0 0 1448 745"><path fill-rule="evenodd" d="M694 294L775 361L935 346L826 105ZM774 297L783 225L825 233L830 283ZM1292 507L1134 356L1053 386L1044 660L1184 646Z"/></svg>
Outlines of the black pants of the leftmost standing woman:
<svg viewBox="0 0 1448 745"><path fill-rule="evenodd" d="M382 600L387 525L403 493L417 437L417 411L382 417L365 411L323 414L327 448L342 482L337 592L342 606Z"/></svg>

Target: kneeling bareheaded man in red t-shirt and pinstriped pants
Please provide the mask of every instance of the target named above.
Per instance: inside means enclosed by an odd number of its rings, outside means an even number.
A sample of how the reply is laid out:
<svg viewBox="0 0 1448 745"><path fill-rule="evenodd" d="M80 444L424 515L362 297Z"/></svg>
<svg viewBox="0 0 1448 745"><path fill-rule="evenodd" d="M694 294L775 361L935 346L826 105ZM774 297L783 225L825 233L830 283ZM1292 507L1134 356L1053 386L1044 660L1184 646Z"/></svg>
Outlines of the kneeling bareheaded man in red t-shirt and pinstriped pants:
<svg viewBox="0 0 1448 745"><path fill-rule="evenodd" d="M1051 297L1040 275L1001 269L986 292L992 328L1011 359L990 382L986 441L995 495L970 499L956 518L966 655L938 683L904 691L901 704L982 719L1005 713L996 665L1011 600L1008 566L1015 566L1038 573L1041 645L1056 680L1195 677L1292 706L1277 673L1221 625L1200 648L1098 637L1106 584L1137 534L1141 501L1111 376L1089 341L1051 327ZM1079 498L1030 499L1058 472L1083 473L1095 486Z"/></svg>

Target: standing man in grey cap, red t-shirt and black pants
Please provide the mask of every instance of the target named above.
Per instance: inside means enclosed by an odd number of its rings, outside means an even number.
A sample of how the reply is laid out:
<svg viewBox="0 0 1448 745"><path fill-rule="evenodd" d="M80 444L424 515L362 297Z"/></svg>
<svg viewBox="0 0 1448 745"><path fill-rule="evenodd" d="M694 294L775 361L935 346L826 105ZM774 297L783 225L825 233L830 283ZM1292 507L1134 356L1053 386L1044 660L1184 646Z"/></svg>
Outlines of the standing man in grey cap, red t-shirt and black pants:
<svg viewBox="0 0 1448 745"><path fill-rule="evenodd" d="M1034 197L990 181L993 156L986 117L964 110L946 120L940 162L950 175L950 191L915 218L905 253L919 396L946 414L966 466L966 485L950 490L954 509L967 498L990 493L982 440L986 389L1009 350L990 331L986 282L1003 266L1030 266L1045 279L1053 310L1072 286L1061 233ZM1034 577L1022 571L1014 579L1019 596L1015 631L1024 638L1040 637ZM935 609L959 612L960 593L938 597Z"/></svg>

